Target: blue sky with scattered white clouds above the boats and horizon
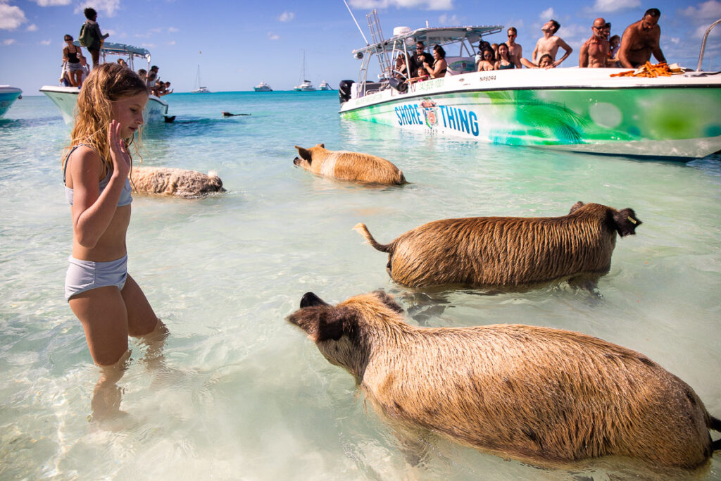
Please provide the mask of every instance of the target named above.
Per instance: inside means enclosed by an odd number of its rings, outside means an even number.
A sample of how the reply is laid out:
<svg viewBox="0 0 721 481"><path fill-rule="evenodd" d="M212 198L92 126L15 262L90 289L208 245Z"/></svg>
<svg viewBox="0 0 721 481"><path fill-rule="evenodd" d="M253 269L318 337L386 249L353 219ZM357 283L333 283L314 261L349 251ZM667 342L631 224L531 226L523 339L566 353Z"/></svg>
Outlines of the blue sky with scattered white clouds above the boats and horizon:
<svg viewBox="0 0 721 481"><path fill-rule="evenodd" d="M721 18L721 0L348 0L368 33L366 14L378 9L384 35L393 28L446 25L503 25L518 28L518 43L530 58L540 27L553 18L558 35L574 48L563 66L578 65L578 50L596 17L621 35L646 9L660 9L661 48L669 62L695 68L701 37ZM77 37L82 9L93 6L108 41L141 45L152 53L160 76L177 92L193 89L200 64L203 84L213 92L249 90L260 80L273 89L298 83L303 52L306 77L336 88L355 79L359 61L350 54L364 45L342 0L189 1L189 0L0 0L0 84L36 94L56 84L63 35ZM505 35L487 37L501 42ZM721 26L709 37L704 69L721 69ZM143 66L144 67L144 66ZM136 69L140 68L136 64Z"/></svg>

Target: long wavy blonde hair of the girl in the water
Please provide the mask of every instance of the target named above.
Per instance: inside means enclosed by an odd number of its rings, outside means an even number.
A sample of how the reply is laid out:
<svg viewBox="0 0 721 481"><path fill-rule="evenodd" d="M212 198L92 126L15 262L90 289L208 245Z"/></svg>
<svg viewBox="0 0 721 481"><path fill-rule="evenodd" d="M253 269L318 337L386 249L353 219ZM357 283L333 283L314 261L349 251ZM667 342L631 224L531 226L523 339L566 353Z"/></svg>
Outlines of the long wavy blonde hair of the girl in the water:
<svg viewBox="0 0 721 481"><path fill-rule="evenodd" d="M78 94L75 106L75 125L70 134L70 146L63 151L63 169L67 162L68 152L78 144L86 144L96 151L102 159L102 176L112 170L110 144L107 141L107 128L112 120L112 102L145 92L148 87L141 78L127 67L118 63L103 63L94 67ZM138 152L138 141L135 151ZM125 147L133 144L133 137L125 140Z"/></svg>

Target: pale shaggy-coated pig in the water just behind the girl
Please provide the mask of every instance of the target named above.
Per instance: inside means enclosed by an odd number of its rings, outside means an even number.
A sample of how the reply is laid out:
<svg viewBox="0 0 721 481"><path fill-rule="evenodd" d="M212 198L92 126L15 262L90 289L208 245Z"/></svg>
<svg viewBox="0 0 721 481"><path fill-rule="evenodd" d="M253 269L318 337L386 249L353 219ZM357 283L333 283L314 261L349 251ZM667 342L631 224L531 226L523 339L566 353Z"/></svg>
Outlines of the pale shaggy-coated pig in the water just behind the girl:
<svg viewBox="0 0 721 481"><path fill-rule="evenodd" d="M130 177L133 190L143 194L196 198L213 192L225 192L223 181L213 172L205 175L195 170L133 167Z"/></svg>

